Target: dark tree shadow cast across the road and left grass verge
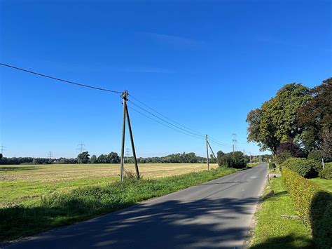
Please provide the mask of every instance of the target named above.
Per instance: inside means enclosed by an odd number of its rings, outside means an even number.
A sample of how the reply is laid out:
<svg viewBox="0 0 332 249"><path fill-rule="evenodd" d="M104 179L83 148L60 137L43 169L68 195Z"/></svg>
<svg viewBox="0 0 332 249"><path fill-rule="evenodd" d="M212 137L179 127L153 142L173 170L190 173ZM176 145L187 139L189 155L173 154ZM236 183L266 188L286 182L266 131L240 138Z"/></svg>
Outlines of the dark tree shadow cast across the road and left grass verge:
<svg viewBox="0 0 332 249"><path fill-rule="evenodd" d="M18 234L18 231L22 236L97 215L83 213L80 216L77 213L75 216L76 211L71 209L73 206L81 206L84 210L90 205L79 199L75 202L54 208L0 210L0 218L4 219L0 228L6 231L7 236L13 235L11 232ZM219 248L227 245L234 248L247 236L249 226L244 219L247 214L252 214L252 204L257 202L258 198L202 198L188 202L160 198L157 203L140 203L65 229L47 232L36 240L25 241L22 246L33 247L33 243L38 242L44 248L62 245L78 248ZM121 203L117 208L120 205L124 207L132 203Z"/></svg>

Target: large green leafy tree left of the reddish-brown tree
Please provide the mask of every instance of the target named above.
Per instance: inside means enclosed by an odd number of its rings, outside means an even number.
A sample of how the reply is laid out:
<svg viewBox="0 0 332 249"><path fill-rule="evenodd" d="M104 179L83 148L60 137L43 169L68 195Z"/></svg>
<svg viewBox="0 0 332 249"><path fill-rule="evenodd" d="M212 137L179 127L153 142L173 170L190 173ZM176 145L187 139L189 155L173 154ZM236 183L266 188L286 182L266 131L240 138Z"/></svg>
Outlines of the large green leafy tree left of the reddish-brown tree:
<svg viewBox="0 0 332 249"><path fill-rule="evenodd" d="M302 132L297 110L309 100L309 88L302 84L283 86L261 108L249 112L248 141L257 142L261 150L269 149L273 154L283 142L294 142Z"/></svg>

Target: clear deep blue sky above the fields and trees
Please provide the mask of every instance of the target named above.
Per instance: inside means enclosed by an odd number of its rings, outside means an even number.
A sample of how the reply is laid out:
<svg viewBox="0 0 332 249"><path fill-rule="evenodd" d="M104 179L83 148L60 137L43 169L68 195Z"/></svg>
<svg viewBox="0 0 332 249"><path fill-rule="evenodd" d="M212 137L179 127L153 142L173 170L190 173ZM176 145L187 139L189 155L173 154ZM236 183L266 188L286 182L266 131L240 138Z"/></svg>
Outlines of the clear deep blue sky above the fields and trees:
<svg viewBox="0 0 332 249"><path fill-rule="evenodd" d="M231 144L285 83L331 76L331 1L4 1L1 62L114 90ZM118 94L0 68L5 156L120 152ZM131 112L138 156L205 142ZM129 140L126 147L130 147ZM217 147L230 151L231 147Z"/></svg>

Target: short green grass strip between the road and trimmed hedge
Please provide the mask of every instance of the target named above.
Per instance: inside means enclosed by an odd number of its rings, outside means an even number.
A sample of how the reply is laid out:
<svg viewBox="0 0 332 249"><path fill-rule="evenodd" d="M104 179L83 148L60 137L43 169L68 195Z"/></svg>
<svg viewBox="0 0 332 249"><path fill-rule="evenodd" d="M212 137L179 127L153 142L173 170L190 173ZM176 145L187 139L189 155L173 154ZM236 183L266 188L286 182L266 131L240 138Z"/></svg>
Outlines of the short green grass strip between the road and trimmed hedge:
<svg viewBox="0 0 332 249"><path fill-rule="evenodd" d="M309 229L300 220L282 218L281 215L297 215L291 196L284 188L282 177L272 178L256 214L257 225L250 248L313 248Z"/></svg>

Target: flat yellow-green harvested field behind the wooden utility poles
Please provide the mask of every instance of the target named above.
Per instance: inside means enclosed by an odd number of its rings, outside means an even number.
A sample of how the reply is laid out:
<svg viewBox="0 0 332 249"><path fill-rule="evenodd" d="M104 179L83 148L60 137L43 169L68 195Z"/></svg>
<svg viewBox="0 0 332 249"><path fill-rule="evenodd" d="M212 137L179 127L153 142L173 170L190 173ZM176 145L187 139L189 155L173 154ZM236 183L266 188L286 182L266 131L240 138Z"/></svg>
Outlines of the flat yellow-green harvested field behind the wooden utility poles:
<svg viewBox="0 0 332 249"><path fill-rule="evenodd" d="M210 165L216 168L216 164ZM206 170L203 163L144 163L139 171L144 178L181 175ZM134 171L133 164L125 170ZM118 164L53 164L0 166L0 208L31 203L55 191L68 191L86 185L118 180Z"/></svg>

